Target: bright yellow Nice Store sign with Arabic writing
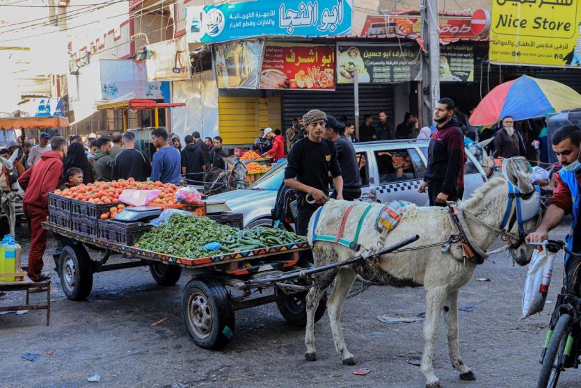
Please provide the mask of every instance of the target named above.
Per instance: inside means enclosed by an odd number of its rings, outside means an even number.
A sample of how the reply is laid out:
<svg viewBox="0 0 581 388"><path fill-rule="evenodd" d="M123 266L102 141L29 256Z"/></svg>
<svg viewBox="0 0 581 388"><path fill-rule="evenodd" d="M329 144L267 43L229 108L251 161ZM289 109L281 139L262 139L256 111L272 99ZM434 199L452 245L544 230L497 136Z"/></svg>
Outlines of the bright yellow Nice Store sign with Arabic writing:
<svg viewBox="0 0 581 388"><path fill-rule="evenodd" d="M580 65L581 0L493 0L491 19L491 62Z"/></svg>

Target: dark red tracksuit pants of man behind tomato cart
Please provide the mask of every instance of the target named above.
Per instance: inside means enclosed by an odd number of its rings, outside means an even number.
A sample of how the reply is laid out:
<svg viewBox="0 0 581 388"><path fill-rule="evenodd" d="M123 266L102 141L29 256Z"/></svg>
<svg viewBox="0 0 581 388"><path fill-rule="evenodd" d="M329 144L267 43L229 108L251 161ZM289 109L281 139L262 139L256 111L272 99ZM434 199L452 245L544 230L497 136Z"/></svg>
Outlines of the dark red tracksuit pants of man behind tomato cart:
<svg viewBox="0 0 581 388"><path fill-rule="evenodd" d="M22 206L26 223L29 225L31 233L31 248L29 252L29 277L36 280L42 271L44 262L42 256L47 248L47 229L43 228L41 223L47 220L49 212L47 209L24 204Z"/></svg>

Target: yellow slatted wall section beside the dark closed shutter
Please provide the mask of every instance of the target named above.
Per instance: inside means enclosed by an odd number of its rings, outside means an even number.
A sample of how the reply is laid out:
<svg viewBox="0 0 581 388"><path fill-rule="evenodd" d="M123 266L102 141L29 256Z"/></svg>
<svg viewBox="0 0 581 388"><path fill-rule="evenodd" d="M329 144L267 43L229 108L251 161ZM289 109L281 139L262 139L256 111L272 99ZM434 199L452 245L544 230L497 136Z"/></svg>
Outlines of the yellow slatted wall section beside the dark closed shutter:
<svg viewBox="0 0 581 388"><path fill-rule="evenodd" d="M252 144L261 128L280 129L280 97L218 97L218 131L225 145Z"/></svg>

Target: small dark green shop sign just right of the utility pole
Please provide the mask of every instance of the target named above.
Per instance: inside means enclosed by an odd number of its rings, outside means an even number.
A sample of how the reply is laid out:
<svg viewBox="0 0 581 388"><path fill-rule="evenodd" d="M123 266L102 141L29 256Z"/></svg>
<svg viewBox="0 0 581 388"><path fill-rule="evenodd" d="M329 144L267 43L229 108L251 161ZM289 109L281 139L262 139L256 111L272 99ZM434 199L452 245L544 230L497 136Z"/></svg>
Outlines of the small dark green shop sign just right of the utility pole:
<svg viewBox="0 0 581 388"><path fill-rule="evenodd" d="M474 48L470 43L440 46L440 81L474 81Z"/></svg>

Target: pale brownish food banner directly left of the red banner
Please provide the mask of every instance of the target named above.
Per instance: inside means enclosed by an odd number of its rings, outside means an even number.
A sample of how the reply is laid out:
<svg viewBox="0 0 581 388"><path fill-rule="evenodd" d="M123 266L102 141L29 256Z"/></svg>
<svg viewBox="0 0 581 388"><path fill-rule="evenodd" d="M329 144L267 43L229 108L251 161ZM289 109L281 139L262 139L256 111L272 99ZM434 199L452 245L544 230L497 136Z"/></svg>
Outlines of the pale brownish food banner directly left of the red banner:
<svg viewBox="0 0 581 388"><path fill-rule="evenodd" d="M256 89L264 40L239 40L214 45L218 88Z"/></svg>

